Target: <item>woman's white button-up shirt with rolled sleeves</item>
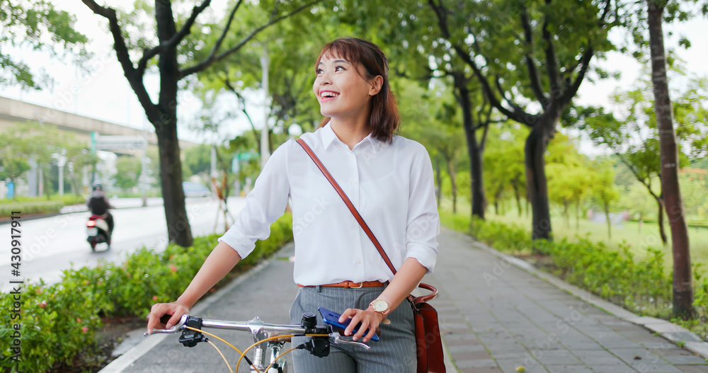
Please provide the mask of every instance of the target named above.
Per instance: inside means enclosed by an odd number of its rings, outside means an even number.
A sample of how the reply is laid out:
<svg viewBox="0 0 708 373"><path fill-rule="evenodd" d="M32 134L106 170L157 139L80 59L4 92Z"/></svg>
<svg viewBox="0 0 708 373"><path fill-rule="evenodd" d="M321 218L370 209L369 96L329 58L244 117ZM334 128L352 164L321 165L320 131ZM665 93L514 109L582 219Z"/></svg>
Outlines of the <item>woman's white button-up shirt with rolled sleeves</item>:
<svg viewBox="0 0 708 373"><path fill-rule="evenodd" d="M349 149L329 124L302 134L302 139L348 195L394 268L406 258L416 258L432 272L440 217L426 148L404 137L394 136L389 144L369 135ZM336 190L294 140L275 149L246 197L246 206L219 241L245 258L256 239L268 237L270 224L285 211L288 197L295 282L325 285L393 278Z"/></svg>

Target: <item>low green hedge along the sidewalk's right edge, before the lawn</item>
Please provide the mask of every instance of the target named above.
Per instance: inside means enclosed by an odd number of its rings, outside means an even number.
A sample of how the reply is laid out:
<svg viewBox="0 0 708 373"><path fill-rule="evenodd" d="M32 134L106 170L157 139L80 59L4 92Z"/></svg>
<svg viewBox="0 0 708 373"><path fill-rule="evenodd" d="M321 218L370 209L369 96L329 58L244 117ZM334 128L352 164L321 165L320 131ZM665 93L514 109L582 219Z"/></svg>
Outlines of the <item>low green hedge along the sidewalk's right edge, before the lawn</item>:
<svg viewBox="0 0 708 373"><path fill-rule="evenodd" d="M620 245L619 250L612 250L603 242L583 237L576 241L532 241L530 232L518 225L471 220L448 212L441 212L440 217L442 224L463 231L498 251L516 256L541 254L551 262L542 269L629 311L670 319L704 339L708 337L708 326L701 321L708 317L708 276L704 276L702 263L693 265L694 306L698 317L671 319L673 275L664 270L661 250L648 248L647 255L638 260L629 251L628 243Z"/></svg>

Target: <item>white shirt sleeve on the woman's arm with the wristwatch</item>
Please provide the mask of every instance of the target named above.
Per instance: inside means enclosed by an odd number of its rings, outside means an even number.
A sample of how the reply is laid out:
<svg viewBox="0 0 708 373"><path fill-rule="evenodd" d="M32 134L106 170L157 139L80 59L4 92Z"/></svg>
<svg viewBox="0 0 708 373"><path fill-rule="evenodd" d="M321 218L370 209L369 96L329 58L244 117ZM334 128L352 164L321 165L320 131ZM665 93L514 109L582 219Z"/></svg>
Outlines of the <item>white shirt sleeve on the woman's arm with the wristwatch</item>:
<svg viewBox="0 0 708 373"><path fill-rule="evenodd" d="M413 162L406 226L406 258L416 258L432 273L438 260L440 215L435 202L433 164L421 145L418 160Z"/></svg>

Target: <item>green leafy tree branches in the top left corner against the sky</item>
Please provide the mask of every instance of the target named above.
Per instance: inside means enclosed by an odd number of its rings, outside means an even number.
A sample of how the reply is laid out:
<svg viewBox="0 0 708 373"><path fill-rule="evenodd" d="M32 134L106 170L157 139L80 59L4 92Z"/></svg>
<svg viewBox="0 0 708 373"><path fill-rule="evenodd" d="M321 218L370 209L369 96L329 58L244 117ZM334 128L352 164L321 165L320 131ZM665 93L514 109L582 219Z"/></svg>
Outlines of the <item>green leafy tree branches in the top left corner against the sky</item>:
<svg viewBox="0 0 708 373"><path fill-rule="evenodd" d="M84 50L86 36L74 30L76 17L66 11L56 11L48 1L0 1L0 86L17 84L23 88L41 89L50 84L51 76L43 71L39 76L28 64L7 52L6 46L30 46L43 50L52 59L73 54L76 62L84 62L89 54ZM47 43L51 40L51 44ZM52 44L62 45L61 49ZM63 50L60 54L59 50Z"/></svg>

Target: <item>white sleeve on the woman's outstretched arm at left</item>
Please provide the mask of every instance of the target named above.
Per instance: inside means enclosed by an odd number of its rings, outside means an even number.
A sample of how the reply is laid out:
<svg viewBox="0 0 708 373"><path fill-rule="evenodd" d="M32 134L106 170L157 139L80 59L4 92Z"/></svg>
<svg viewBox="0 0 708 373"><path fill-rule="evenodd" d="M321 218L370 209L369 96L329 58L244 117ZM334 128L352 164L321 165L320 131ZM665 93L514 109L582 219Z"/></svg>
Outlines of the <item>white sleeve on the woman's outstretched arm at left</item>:
<svg viewBox="0 0 708 373"><path fill-rule="evenodd" d="M273 151L253 190L246 196L246 205L239 212L236 222L218 239L234 248L241 258L246 258L256 248L257 240L270 236L270 224L285 212L290 195L287 169L289 146L288 142Z"/></svg>

